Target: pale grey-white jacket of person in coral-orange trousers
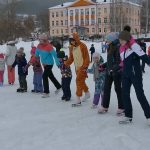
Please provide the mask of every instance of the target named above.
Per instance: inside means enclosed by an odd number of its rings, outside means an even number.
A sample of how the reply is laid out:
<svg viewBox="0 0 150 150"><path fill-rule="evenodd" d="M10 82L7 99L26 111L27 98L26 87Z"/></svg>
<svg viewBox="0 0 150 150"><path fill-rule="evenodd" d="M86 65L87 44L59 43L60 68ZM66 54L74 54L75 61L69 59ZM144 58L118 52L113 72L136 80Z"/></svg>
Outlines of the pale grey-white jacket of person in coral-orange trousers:
<svg viewBox="0 0 150 150"><path fill-rule="evenodd" d="M16 53L17 53L16 46L7 45L6 54L5 54L6 65L11 66L14 63Z"/></svg>

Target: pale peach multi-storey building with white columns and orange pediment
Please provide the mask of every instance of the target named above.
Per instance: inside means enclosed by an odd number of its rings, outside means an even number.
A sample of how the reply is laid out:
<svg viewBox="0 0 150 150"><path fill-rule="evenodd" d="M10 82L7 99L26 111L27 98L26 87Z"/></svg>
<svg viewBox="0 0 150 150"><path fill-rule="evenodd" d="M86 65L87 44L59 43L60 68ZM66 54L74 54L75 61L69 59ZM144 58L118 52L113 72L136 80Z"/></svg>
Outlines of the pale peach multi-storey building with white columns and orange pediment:
<svg viewBox="0 0 150 150"><path fill-rule="evenodd" d="M50 36L69 36L74 31L80 36L106 35L111 31L121 31L126 24L133 32L140 33L141 6L120 1L114 4L113 0L76 0L51 7Z"/></svg>

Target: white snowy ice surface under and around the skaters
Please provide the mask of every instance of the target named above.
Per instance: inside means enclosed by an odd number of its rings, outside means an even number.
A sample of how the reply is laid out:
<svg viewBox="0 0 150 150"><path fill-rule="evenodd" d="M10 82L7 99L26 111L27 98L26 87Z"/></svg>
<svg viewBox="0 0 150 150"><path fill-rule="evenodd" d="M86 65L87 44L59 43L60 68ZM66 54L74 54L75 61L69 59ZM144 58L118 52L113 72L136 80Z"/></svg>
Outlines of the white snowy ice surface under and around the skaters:
<svg viewBox="0 0 150 150"><path fill-rule="evenodd" d="M35 42L38 44L38 42ZM92 44L86 42L88 48ZM100 43L94 43L96 51L101 50ZM148 43L150 45L150 43ZM30 57L31 43L20 42L17 47L25 48L27 59ZM67 47L67 45L66 45ZM0 51L5 51L0 46ZM66 49L68 51L68 49ZM102 54L106 58L106 54ZM16 68L17 71L17 68ZM54 66L54 74L61 80L59 69ZM74 66L72 65L74 72ZM17 74L17 73L16 73ZM120 117L115 115L117 98L112 88L109 113L97 114L91 109L94 94L93 77L89 75L87 84L91 99L82 107L72 108L75 101L75 75L72 79L72 101L64 102L62 94L55 95L50 82L50 97L42 99L32 94L32 67L29 69L28 92L16 93L18 80L14 86L7 84L0 88L0 150L148 150L150 147L150 128L146 124L143 111L137 102L134 89L131 98L134 120L131 125L119 125ZM150 68L146 66L144 90L150 102Z"/></svg>

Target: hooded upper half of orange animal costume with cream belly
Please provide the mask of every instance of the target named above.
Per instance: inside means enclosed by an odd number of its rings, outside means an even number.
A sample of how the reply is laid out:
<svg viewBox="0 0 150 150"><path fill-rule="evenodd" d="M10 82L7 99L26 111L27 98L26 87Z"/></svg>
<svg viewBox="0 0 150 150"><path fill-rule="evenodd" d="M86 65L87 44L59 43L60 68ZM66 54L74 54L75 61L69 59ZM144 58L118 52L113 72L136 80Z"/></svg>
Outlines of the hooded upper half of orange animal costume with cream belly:
<svg viewBox="0 0 150 150"><path fill-rule="evenodd" d="M76 71L85 70L90 64L87 46L80 41L76 32L73 33L73 39L76 41L76 46L70 45L69 59L65 62L65 65L70 66L74 62Z"/></svg>

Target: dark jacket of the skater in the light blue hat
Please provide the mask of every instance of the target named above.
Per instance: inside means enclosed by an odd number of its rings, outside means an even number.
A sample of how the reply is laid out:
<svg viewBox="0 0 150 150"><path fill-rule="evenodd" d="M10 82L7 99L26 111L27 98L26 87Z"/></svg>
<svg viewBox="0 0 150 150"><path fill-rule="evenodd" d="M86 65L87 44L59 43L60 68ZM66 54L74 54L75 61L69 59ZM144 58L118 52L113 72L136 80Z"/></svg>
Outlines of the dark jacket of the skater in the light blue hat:
<svg viewBox="0 0 150 150"><path fill-rule="evenodd" d="M111 73L115 75L121 69L119 47L120 45L118 43L113 42L108 45L107 62L103 64L103 67L106 68L106 73L109 75Z"/></svg>

